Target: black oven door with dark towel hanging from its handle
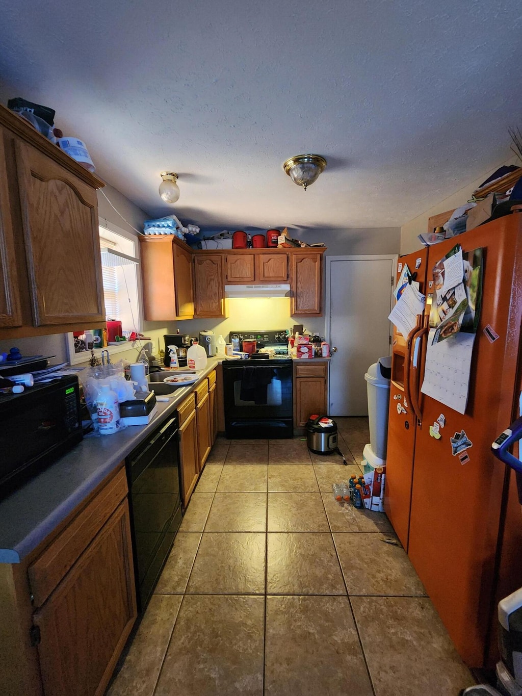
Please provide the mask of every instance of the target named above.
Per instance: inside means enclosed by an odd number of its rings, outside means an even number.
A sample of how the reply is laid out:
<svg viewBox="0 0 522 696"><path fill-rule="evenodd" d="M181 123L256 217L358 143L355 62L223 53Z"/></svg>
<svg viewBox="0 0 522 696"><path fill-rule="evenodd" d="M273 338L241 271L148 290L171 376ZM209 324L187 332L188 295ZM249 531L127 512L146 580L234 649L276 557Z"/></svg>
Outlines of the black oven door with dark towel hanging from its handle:
<svg viewBox="0 0 522 696"><path fill-rule="evenodd" d="M223 363L228 438L292 437L292 363Z"/></svg>

